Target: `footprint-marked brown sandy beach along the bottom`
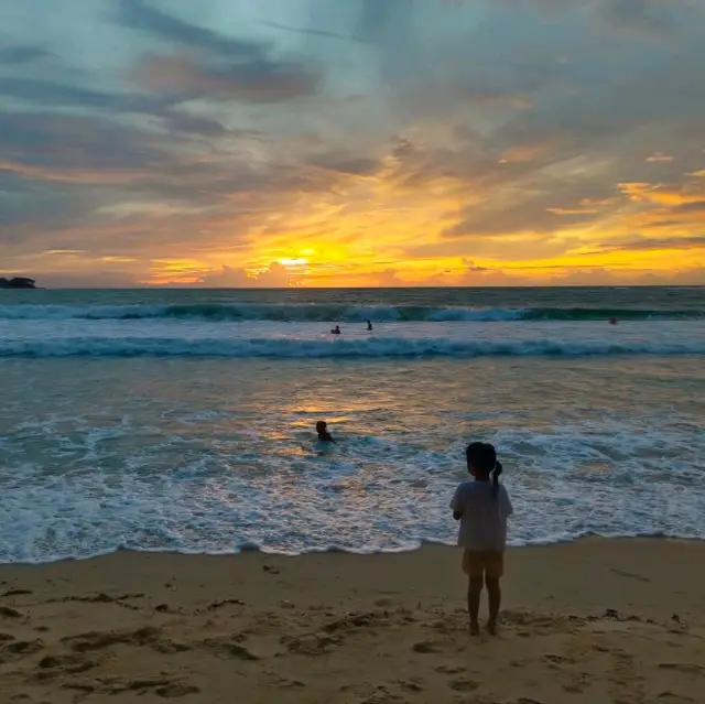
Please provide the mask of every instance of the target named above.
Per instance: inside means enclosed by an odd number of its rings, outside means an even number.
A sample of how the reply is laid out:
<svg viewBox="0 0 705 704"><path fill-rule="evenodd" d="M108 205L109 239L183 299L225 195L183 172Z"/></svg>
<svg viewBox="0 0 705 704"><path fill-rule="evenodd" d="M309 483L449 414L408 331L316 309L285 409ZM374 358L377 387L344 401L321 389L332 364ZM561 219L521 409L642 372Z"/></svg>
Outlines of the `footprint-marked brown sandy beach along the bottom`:
<svg viewBox="0 0 705 704"><path fill-rule="evenodd" d="M0 701L702 702L705 543L511 550L498 637L458 552L118 553L0 567Z"/></svg>

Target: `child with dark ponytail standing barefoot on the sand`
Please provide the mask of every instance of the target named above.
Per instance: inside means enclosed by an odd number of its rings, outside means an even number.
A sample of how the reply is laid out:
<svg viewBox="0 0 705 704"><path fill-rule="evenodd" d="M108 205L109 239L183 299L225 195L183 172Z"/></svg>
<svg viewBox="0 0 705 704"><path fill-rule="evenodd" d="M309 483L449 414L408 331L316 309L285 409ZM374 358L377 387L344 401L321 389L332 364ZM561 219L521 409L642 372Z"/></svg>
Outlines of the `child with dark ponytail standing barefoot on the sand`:
<svg viewBox="0 0 705 704"><path fill-rule="evenodd" d="M463 572L469 578L470 633L479 632L480 594L485 584L489 600L487 630L495 635L501 603L499 580L505 572L507 518L513 509L507 489L499 484L502 465L497 462L495 447L489 443L470 443L465 455L474 479L464 481L455 490L451 509L453 518L460 521L458 545L464 548Z"/></svg>

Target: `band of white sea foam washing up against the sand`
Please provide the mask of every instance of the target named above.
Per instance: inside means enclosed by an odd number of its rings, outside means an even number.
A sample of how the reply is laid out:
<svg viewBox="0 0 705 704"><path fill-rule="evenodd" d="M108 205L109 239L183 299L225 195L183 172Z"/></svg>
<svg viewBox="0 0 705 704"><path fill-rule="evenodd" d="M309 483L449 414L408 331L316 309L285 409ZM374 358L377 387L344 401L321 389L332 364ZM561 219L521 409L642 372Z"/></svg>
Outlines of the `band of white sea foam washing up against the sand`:
<svg viewBox="0 0 705 704"><path fill-rule="evenodd" d="M600 475L599 468L576 472L572 467L577 455L604 459L604 447L596 451L585 435L567 432L539 441L513 438L527 441L542 446L540 466L516 458L512 441L498 442L517 509L511 544L543 544L588 533L705 538L703 495L693 469L676 480L655 467L644 472L638 462L627 463L614 476ZM639 442L642 451L651 452L663 436L644 441L621 434L610 447L618 452L625 441ZM566 446L576 450L566 452ZM358 448L359 443L352 444L350 453ZM384 456L399 474L375 476L366 469L365 457L329 456L323 461L324 470L318 458L318 472L303 486L303 475L294 467L283 476L246 478L224 472L226 467L207 456L164 474L144 474L145 458L137 456L117 476L97 466L90 473L44 477L41 483L36 467L17 467L15 480L3 486L7 528L0 559L40 562L119 548L227 553L257 545L296 554L452 543L455 529L447 502L462 478L454 470L459 457L449 454L438 463L438 457L423 452L410 457L390 445ZM432 474L430 461L436 469ZM313 469L308 463L306 468Z"/></svg>

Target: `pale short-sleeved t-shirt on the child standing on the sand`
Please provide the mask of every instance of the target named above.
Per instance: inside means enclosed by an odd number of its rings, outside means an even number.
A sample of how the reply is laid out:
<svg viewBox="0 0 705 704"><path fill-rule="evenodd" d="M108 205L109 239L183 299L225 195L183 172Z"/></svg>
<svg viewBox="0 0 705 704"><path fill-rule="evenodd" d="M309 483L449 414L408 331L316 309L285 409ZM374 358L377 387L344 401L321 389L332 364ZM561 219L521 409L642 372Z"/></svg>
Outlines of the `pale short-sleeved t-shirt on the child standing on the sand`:
<svg viewBox="0 0 705 704"><path fill-rule="evenodd" d="M455 490L451 509L463 513L458 530L460 548L503 552L507 518L514 511L501 484L495 498L491 481L464 481Z"/></svg>

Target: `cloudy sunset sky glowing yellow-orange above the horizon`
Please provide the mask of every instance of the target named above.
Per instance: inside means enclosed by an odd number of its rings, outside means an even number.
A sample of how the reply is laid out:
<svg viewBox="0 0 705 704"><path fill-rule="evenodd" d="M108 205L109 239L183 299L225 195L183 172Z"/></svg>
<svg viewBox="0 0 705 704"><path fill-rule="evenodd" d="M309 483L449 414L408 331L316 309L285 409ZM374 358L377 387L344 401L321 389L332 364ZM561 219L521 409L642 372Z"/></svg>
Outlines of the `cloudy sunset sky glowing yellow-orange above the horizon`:
<svg viewBox="0 0 705 704"><path fill-rule="evenodd" d="M705 1L0 0L0 274L705 284Z"/></svg>

